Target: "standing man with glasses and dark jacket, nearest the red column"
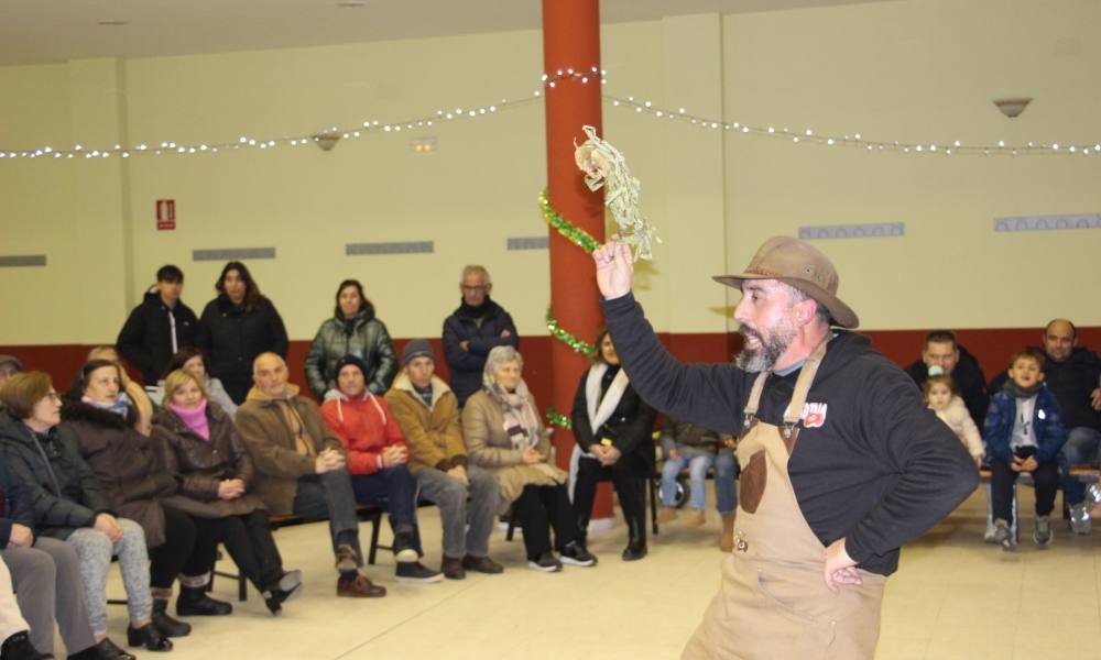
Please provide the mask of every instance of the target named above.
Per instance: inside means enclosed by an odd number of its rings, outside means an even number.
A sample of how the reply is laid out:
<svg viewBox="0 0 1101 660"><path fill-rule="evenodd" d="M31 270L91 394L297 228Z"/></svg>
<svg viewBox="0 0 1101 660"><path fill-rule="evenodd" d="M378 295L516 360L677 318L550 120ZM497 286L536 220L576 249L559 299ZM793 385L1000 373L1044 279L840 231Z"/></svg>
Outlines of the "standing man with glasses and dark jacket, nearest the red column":
<svg viewBox="0 0 1101 660"><path fill-rule="evenodd" d="M519 348L520 337L509 312L490 299L493 280L483 266L462 268L459 290L462 304L444 320L444 356L461 408L481 388L489 352L495 346Z"/></svg>

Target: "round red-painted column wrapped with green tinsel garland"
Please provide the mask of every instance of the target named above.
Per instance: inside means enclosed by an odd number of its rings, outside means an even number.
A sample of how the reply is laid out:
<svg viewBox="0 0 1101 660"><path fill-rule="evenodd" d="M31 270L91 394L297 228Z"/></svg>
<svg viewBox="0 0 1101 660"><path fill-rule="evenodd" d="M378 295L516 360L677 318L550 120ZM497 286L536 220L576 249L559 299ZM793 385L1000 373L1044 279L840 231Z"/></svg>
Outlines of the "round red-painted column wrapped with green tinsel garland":
<svg viewBox="0 0 1101 660"><path fill-rule="evenodd" d="M585 185L574 161L574 144L587 140L581 127L603 135L600 116L600 2L543 0L543 65L549 79L546 102L547 187L550 205L563 218L604 240L603 193ZM573 70L577 75L570 75ZM560 73L559 73L560 72ZM582 81L587 79L587 81ZM554 84L552 86L552 82ZM550 305L558 323L591 342L602 323L592 257L550 229ZM569 415L574 393L589 361L565 343L552 340L554 407ZM566 469L574 436L555 431L558 465ZM611 515L611 493L602 485L593 518Z"/></svg>

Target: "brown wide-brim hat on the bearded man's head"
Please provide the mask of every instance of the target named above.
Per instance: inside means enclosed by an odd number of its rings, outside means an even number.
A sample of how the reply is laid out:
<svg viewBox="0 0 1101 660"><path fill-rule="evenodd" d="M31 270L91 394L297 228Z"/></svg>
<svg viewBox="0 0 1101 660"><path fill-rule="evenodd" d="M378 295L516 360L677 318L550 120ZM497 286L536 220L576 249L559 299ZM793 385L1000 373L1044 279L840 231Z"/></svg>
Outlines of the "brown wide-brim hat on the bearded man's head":
<svg viewBox="0 0 1101 660"><path fill-rule="evenodd" d="M773 237L761 245L745 272L739 275L716 275L720 284L741 288L746 279L778 279L818 301L829 311L831 322L841 328L855 328L860 318L837 297L840 278L829 257L820 250L792 237Z"/></svg>

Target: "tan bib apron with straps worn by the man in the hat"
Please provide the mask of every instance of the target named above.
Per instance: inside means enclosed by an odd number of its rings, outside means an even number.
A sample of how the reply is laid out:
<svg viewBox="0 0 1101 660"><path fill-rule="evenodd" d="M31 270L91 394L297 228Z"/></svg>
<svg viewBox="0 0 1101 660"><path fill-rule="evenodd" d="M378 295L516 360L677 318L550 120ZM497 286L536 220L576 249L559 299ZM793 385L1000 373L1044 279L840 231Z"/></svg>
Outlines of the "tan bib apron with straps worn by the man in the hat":
<svg viewBox="0 0 1101 660"><path fill-rule="evenodd" d="M682 659L860 660L875 654L886 578L860 571L863 584L835 594L822 579L826 549L810 530L787 474L807 392L826 354L803 365L783 427L756 418L762 372L745 406L734 551L723 561L719 593Z"/></svg>

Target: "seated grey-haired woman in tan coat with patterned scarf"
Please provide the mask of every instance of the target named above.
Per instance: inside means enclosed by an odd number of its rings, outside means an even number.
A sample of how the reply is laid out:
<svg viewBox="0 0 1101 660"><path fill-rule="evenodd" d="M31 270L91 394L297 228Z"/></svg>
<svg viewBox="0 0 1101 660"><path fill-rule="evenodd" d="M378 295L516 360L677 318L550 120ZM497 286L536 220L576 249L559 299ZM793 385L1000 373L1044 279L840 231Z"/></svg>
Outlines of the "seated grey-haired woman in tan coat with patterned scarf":
<svg viewBox="0 0 1101 660"><path fill-rule="evenodd" d="M535 398L521 377L523 369L524 360L512 346L489 352L482 388L462 409L467 453L476 465L497 476L502 513L512 506L520 520L530 568L555 572L563 563L591 566L597 558L578 542L567 474L548 462L550 441ZM560 560L552 551L550 527Z"/></svg>

